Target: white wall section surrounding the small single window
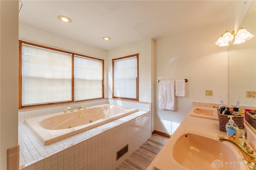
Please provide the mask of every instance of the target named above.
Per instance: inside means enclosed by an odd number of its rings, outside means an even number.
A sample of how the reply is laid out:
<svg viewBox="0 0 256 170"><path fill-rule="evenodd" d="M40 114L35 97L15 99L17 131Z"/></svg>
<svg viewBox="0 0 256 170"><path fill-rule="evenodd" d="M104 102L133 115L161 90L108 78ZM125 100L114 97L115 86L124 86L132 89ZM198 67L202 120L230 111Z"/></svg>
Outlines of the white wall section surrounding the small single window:
<svg viewBox="0 0 256 170"><path fill-rule="evenodd" d="M108 83L105 82L106 97L112 98L112 59L139 53L139 101L152 102L151 81L154 77L152 77L151 67L154 54L152 54L151 47L153 43L154 40L148 39L107 51L105 61L107 69L105 75L108 79Z"/></svg>

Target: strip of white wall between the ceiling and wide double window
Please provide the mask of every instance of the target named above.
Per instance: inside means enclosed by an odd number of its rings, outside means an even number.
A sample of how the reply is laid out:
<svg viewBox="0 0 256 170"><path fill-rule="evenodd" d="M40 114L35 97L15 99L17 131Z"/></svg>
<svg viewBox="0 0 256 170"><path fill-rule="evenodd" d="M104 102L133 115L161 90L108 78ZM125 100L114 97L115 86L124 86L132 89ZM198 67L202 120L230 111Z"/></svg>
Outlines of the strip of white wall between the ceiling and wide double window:
<svg viewBox="0 0 256 170"><path fill-rule="evenodd" d="M19 23L19 39L104 59L106 51Z"/></svg>

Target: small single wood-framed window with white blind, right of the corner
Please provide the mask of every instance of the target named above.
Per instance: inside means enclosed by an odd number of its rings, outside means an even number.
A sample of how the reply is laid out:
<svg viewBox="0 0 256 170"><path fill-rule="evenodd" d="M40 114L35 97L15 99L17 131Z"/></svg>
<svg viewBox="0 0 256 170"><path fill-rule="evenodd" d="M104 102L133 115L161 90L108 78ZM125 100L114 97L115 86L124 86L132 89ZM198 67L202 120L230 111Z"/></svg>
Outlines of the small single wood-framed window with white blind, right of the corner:
<svg viewBox="0 0 256 170"><path fill-rule="evenodd" d="M112 59L112 97L138 101L138 54Z"/></svg>

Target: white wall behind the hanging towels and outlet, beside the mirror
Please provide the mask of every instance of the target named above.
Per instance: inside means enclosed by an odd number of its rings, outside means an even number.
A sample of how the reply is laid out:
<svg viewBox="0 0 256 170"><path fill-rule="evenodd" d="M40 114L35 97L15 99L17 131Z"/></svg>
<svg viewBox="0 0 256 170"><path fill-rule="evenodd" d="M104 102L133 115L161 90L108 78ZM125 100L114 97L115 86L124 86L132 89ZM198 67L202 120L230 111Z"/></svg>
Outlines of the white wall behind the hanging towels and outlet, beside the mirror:
<svg viewBox="0 0 256 170"><path fill-rule="evenodd" d="M190 30L156 41L155 81L188 79L185 97L175 97L175 110L159 109L155 89L155 130L172 134L182 122L192 102L228 104L228 47L214 43L226 24ZM218 34L216 34L218 33ZM205 90L213 90L210 99Z"/></svg>

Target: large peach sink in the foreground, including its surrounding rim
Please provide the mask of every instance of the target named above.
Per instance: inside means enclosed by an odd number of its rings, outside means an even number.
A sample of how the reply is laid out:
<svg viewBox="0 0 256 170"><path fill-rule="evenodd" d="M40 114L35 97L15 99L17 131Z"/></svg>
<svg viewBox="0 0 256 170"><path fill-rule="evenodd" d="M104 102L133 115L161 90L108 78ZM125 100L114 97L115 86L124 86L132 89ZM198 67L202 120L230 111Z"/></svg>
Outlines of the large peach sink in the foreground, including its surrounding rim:
<svg viewBox="0 0 256 170"><path fill-rule="evenodd" d="M184 132L170 142L156 160L154 170L246 169L242 155L229 143L205 134Z"/></svg>

